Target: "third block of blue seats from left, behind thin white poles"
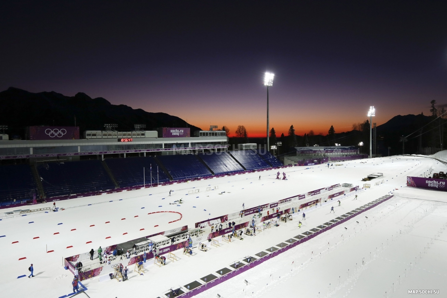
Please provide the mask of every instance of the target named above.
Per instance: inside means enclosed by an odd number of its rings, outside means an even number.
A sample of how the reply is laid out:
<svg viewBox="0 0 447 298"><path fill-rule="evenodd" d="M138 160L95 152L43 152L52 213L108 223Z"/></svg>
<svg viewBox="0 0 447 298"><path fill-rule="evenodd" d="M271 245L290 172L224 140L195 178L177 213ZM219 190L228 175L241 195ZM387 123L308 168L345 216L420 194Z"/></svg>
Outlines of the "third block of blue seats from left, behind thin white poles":
<svg viewBox="0 0 447 298"><path fill-rule="evenodd" d="M105 159L105 163L118 182L119 187L131 187L136 185L148 186L151 183L152 165L152 185L157 184L157 162L152 156L135 158L110 158ZM144 168L144 176L143 176ZM162 169L158 169L158 182L169 181L169 177Z"/></svg>

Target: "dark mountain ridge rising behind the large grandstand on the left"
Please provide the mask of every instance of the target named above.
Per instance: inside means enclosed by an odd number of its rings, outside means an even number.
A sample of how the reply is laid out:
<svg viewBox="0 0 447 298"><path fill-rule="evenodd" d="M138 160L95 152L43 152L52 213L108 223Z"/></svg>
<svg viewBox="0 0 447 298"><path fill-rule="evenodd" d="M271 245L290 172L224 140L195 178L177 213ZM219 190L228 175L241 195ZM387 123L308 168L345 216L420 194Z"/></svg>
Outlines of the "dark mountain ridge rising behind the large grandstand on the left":
<svg viewBox="0 0 447 298"><path fill-rule="evenodd" d="M10 87L0 92L0 124L8 125L7 133L24 138L25 127L55 125L80 127L84 130L103 130L105 123L118 124L117 130L133 130L134 124L146 124L146 130L158 127L189 127L191 134L201 130L179 117L166 113L151 113L126 105L112 105L106 99L91 98L77 93L65 96L54 91L31 93Z"/></svg>

